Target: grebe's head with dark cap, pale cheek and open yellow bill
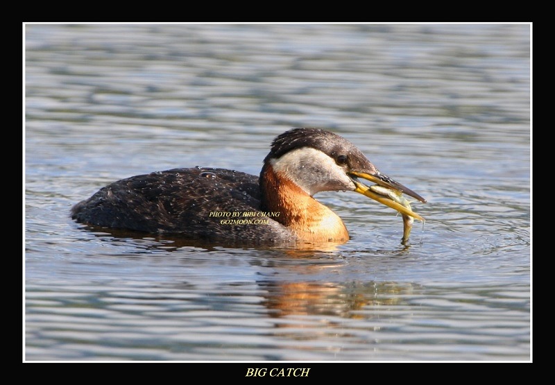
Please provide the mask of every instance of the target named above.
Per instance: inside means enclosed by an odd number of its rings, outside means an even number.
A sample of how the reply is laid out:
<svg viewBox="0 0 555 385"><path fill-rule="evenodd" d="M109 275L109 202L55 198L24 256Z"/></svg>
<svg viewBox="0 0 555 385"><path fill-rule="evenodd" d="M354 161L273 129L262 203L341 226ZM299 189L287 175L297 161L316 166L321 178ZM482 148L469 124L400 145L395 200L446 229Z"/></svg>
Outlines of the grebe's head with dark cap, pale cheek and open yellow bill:
<svg viewBox="0 0 555 385"><path fill-rule="evenodd" d="M363 178L426 202L408 187L380 173L354 144L320 128L294 128L276 137L264 159L261 180L269 166L273 173L287 178L309 196L319 191L356 191L402 214L421 219L407 207L375 194L358 180Z"/></svg>

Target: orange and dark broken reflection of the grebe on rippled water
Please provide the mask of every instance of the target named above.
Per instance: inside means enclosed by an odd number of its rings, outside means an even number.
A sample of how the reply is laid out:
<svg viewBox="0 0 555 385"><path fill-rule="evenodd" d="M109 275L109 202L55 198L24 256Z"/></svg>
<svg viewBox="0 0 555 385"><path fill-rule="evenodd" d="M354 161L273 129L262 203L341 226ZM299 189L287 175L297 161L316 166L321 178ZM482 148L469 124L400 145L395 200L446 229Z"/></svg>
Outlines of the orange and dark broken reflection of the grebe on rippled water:
<svg viewBox="0 0 555 385"><path fill-rule="evenodd" d="M136 246L133 257L144 254L144 258L160 252L172 252L195 248L200 252L221 252L222 248L213 243L193 242L190 239L148 238L144 234L134 234L128 230L89 228L92 234L114 246ZM97 232L94 232L94 231ZM402 257L404 249L389 250L396 257ZM255 253L244 250L244 253ZM384 253L375 251L374 253ZM318 277L331 269L341 269L343 259L334 259L338 253L330 250L266 250L264 257L251 259L253 266L268 268L264 279L256 284L264 293L260 305L266 307L271 318L290 316L329 316L330 323L335 318L383 318L384 309L400 305L401 298L413 291L413 285L402 282L352 281L331 282L318 280L298 280L298 277ZM370 256L369 256L370 257ZM183 261L190 263L189 259ZM194 266L193 266L194 267ZM280 277L284 277L281 279ZM290 280L287 277L295 277ZM249 284L251 284L249 282ZM177 286L186 291L196 291L194 282L180 282ZM202 296L198 299L202 300ZM199 304L205 306L205 304ZM276 323L276 327L302 327L302 323ZM307 320L307 327L314 327L314 320Z"/></svg>

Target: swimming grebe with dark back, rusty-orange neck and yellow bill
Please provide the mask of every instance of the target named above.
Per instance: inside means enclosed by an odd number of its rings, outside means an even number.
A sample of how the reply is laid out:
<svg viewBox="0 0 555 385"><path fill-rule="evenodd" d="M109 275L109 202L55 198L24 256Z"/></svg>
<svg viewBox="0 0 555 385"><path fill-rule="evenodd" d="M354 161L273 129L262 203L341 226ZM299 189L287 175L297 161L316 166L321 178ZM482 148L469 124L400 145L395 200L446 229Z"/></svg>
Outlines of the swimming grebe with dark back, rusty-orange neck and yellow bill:
<svg viewBox="0 0 555 385"><path fill-rule="evenodd" d="M343 243L349 239L343 221L312 196L350 190L422 220L357 178L426 202L380 173L343 137L321 128L293 128L275 137L259 178L198 166L133 176L78 203L71 217L89 225L216 242Z"/></svg>

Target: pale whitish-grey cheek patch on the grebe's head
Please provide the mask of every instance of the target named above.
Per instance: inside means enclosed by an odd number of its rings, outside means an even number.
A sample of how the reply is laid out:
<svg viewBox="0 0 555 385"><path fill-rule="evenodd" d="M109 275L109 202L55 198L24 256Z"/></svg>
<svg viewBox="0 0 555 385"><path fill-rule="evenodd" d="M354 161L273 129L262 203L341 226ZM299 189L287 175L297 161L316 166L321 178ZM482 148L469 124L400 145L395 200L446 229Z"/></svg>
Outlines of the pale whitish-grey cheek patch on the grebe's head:
<svg viewBox="0 0 555 385"><path fill-rule="evenodd" d="M318 191L355 189L345 171L331 157L314 148L297 148L270 162L275 173L291 180L310 196Z"/></svg>

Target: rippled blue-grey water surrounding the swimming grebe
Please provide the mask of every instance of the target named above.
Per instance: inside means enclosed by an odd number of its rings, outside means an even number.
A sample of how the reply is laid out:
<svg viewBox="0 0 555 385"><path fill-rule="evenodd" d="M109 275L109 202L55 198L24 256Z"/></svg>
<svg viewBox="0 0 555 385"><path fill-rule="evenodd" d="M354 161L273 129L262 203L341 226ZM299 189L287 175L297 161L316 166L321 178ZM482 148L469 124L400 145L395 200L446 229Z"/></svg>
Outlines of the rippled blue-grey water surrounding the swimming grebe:
<svg viewBox="0 0 555 385"><path fill-rule="evenodd" d="M24 360L531 360L530 26L28 24ZM427 198L316 198L334 250L89 232L69 209L175 167L257 174L320 126Z"/></svg>

